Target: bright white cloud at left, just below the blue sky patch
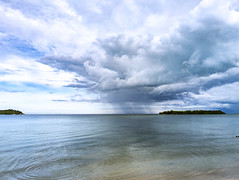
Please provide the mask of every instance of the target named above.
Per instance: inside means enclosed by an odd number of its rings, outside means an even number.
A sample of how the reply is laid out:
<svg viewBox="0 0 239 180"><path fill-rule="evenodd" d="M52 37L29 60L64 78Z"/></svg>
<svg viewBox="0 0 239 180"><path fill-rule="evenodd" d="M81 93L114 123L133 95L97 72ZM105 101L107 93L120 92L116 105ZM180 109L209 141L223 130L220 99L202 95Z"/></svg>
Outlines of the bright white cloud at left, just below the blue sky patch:
<svg viewBox="0 0 239 180"><path fill-rule="evenodd" d="M74 82L75 79L83 80L75 73L53 69L48 65L36 62L35 59L17 56L8 56L0 62L1 82L10 83L35 83L62 87Z"/></svg>

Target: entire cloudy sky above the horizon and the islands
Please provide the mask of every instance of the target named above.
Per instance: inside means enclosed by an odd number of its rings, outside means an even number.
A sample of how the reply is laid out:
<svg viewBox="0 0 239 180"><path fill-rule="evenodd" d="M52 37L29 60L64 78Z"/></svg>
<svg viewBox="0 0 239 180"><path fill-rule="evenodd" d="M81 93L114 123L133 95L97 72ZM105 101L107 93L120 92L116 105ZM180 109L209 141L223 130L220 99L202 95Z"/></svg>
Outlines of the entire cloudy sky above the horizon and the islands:
<svg viewBox="0 0 239 180"><path fill-rule="evenodd" d="M0 0L0 109L239 112L239 0Z"/></svg>

